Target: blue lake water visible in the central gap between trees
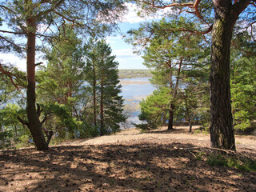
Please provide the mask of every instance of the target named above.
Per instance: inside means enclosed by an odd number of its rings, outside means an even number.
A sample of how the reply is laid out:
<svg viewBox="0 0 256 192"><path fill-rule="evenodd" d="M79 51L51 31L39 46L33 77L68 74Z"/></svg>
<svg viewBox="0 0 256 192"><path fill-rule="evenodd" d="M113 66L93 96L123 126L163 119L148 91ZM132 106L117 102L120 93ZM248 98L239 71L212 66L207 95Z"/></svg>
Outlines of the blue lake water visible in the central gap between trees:
<svg viewBox="0 0 256 192"><path fill-rule="evenodd" d="M125 99L125 114L128 116L126 124L122 128L129 128L132 123L142 123L138 119L140 114L139 102L142 98L153 93L154 86L150 84L149 78L122 78L122 97Z"/></svg>

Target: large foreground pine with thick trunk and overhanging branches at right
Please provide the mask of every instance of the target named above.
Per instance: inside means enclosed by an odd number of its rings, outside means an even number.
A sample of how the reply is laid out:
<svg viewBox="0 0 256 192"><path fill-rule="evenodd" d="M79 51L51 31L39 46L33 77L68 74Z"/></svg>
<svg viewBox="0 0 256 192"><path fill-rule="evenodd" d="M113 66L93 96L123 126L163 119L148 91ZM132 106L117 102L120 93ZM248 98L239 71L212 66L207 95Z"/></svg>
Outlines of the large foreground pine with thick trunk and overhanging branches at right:
<svg viewBox="0 0 256 192"><path fill-rule="evenodd" d="M254 30L255 4L253 0L214 0L214 1L133 1L142 10L139 14L155 14L158 10L172 9L166 11L165 17L170 21L176 21L186 14L186 22L179 29L158 29L176 33L182 31L179 38L189 38L200 35L206 39L211 35L211 57L210 57L210 141L214 148L235 150L234 127L231 114L230 102L230 43L235 23L246 20L246 30ZM242 14L245 13L245 14ZM243 22L243 23L246 23ZM198 23L196 29L190 24ZM154 36L154 30L148 25L141 27L135 38L134 44L145 46L147 40ZM254 35L254 33L251 33Z"/></svg>

